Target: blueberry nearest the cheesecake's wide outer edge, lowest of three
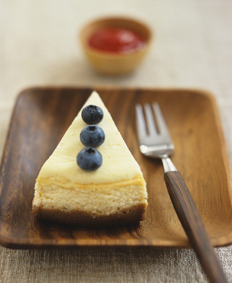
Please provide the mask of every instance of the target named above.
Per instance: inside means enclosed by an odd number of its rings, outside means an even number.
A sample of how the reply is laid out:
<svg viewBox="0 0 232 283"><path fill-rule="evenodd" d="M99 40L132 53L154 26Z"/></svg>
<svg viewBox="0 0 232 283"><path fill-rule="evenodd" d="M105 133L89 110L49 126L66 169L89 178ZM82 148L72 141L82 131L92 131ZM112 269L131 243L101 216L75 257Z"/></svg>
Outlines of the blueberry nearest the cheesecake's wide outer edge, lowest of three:
<svg viewBox="0 0 232 283"><path fill-rule="evenodd" d="M102 155L93 147L82 149L76 159L80 168L86 171L96 170L102 165Z"/></svg>

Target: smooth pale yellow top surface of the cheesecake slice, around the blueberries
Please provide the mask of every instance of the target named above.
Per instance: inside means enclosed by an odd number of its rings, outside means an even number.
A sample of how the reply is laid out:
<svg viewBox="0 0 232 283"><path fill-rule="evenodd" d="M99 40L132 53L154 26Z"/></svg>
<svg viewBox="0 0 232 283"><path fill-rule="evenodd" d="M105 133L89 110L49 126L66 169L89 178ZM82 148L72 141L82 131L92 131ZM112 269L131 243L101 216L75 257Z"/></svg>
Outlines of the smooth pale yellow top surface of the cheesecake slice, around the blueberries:
<svg viewBox="0 0 232 283"><path fill-rule="evenodd" d="M104 117L98 124L105 132L105 142L98 147L102 154L102 166L95 171L81 169L76 156L85 148L80 132L87 126L81 118L82 109L90 104L102 108ZM48 179L60 183L107 184L143 177L141 169L130 153L111 115L96 91L90 95L73 120L52 155L42 166L37 181Z"/></svg>

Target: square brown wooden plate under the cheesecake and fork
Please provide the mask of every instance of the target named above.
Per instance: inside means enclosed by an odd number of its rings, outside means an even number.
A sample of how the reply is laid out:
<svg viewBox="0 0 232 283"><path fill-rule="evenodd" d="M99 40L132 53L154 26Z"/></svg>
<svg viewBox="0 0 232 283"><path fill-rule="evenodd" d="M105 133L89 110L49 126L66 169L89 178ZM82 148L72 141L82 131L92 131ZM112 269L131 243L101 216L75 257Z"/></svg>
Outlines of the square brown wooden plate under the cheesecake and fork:
<svg viewBox="0 0 232 283"><path fill-rule="evenodd" d="M214 246L232 243L231 175L214 98L203 91L97 88L147 182L146 220L89 229L31 214L38 172L92 89L32 88L16 102L1 163L0 243L10 248L190 247L164 183L161 162L139 152L134 105L157 101L175 143L173 163Z"/></svg>

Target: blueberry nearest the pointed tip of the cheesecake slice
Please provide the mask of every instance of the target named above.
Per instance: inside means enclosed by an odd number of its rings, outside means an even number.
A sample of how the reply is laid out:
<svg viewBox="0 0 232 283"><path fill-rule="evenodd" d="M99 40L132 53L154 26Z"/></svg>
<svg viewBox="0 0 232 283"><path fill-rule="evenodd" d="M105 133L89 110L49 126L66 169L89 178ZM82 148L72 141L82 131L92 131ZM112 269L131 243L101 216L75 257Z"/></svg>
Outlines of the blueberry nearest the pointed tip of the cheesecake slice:
<svg viewBox="0 0 232 283"><path fill-rule="evenodd" d="M103 111L96 105L88 105L82 110L81 117L86 124L98 124L102 121Z"/></svg>

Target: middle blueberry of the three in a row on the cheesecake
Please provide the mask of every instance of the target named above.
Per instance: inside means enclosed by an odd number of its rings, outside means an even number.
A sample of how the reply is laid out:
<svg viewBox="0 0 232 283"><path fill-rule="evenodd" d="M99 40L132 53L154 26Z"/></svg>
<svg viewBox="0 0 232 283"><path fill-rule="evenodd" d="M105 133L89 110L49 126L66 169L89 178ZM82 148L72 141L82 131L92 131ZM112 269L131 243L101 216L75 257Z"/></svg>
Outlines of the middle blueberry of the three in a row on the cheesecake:
<svg viewBox="0 0 232 283"><path fill-rule="evenodd" d="M105 138L104 131L98 125L88 125L80 132L81 143L87 147L99 147Z"/></svg>

